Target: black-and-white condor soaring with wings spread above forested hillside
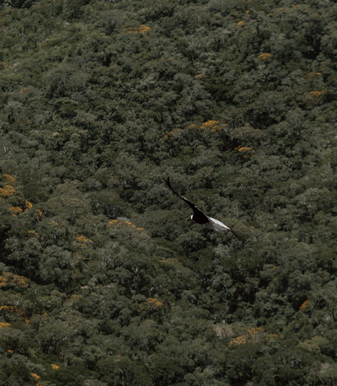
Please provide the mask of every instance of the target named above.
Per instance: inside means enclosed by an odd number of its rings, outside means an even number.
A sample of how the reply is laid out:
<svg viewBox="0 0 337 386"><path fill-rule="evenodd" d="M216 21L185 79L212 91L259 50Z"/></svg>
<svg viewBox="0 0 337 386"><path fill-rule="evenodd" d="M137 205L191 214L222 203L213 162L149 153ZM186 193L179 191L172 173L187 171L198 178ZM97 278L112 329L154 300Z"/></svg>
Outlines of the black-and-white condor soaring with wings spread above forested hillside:
<svg viewBox="0 0 337 386"><path fill-rule="evenodd" d="M234 234L235 237L237 237L240 241L242 241L243 244L246 244L246 239L242 234L240 234L239 232L236 232L233 229L229 229L229 227L227 227L222 222L215 220L215 218L206 216L205 213L203 213L200 209L198 209L191 201L188 201L187 198L185 198L184 196L180 195L175 190L173 190L170 184L169 177L165 182L166 182L166 185L170 188L172 193L174 193L176 196L181 198L181 200L185 201L186 204L192 208L193 215L186 218L186 220L193 220L196 223L203 225L204 227L210 228L212 230L217 230L218 232L221 232L222 230L229 230L230 232L232 232L232 234Z"/></svg>

